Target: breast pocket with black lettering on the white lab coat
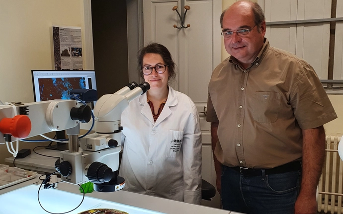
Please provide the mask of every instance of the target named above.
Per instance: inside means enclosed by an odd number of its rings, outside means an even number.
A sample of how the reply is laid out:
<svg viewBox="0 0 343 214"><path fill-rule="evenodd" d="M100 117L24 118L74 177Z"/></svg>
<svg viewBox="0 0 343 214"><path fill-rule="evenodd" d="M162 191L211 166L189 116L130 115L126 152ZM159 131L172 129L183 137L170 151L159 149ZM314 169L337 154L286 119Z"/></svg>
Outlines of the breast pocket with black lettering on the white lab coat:
<svg viewBox="0 0 343 214"><path fill-rule="evenodd" d="M176 157L180 152L183 139L183 131L168 131L167 157Z"/></svg>

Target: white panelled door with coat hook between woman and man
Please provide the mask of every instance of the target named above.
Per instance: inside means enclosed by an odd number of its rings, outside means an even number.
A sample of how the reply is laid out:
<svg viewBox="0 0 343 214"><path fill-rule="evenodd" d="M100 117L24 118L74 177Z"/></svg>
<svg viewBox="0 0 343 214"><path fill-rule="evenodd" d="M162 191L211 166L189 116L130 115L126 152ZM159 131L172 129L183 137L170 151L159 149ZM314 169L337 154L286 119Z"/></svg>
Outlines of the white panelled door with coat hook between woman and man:
<svg viewBox="0 0 343 214"><path fill-rule="evenodd" d="M190 24L190 27L174 28L174 24L178 27L181 24L179 16L172 8L177 6L183 18L184 5L190 6L184 21L184 25ZM157 42L168 48L177 65L176 81L171 84L171 87L187 94L197 105L199 112L205 110L211 73L221 62L221 12L220 0L143 1L144 45ZM200 117L201 126L209 127L205 117ZM204 129L202 129L202 175L204 180L215 186L211 138L209 129ZM205 202L206 205L219 207L219 194L216 197L217 201Z"/></svg>

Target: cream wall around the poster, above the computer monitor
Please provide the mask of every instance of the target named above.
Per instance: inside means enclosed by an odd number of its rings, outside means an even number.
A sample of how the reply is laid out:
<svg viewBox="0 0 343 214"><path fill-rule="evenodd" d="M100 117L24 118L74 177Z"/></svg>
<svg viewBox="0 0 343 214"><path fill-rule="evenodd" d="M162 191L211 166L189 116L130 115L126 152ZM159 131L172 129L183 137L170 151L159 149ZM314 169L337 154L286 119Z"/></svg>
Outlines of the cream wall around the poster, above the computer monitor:
<svg viewBox="0 0 343 214"><path fill-rule="evenodd" d="M34 101L31 70L54 69L52 25L83 26L83 6L83 0L0 0L2 102ZM19 149L36 145L19 143ZM10 156L1 144L0 163Z"/></svg>

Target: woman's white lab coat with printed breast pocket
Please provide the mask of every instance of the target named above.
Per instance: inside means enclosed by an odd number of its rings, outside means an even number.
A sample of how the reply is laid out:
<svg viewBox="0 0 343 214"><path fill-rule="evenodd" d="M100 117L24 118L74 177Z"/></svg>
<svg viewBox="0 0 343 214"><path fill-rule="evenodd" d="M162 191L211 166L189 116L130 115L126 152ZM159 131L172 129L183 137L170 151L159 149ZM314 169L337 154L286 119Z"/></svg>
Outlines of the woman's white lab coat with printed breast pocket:
<svg viewBox="0 0 343 214"><path fill-rule="evenodd" d="M193 101L169 87L155 123L145 93L130 102L121 125L124 190L200 204L201 130Z"/></svg>

